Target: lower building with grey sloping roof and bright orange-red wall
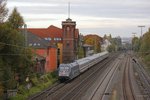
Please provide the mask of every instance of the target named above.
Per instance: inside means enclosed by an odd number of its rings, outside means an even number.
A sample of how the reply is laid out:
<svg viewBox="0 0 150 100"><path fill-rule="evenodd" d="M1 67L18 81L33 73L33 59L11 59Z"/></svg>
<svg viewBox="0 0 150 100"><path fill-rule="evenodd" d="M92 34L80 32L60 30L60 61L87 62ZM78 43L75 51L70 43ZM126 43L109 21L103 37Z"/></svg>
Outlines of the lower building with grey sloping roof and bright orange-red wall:
<svg viewBox="0 0 150 100"><path fill-rule="evenodd" d="M27 45L32 47L35 66L33 70L38 73L50 72L57 69L57 47L50 45L49 41L27 31Z"/></svg>

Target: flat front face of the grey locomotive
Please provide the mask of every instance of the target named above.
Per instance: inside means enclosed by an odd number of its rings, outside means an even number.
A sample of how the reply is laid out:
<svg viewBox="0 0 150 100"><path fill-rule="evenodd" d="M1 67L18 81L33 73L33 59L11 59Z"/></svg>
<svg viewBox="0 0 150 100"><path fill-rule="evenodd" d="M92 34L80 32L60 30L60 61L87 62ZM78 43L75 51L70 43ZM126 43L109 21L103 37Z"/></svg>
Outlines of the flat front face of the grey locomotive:
<svg viewBox="0 0 150 100"><path fill-rule="evenodd" d="M68 80L70 79L70 66L69 64L60 64L59 65L59 71L58 76L60 80Z"/></svg>

